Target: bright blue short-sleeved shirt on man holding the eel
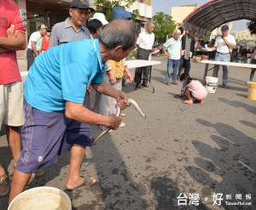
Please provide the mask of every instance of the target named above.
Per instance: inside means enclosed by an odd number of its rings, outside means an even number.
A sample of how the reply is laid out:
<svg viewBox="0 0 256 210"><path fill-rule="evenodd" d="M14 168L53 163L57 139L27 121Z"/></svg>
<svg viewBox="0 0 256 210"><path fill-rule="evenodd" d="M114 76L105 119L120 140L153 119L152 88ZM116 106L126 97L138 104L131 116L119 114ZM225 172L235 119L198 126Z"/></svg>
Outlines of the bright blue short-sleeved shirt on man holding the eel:
<svg viewBox="0 0 256 210"><path fill-rule="evenodd" d="M65 110L66 101L82 104L87 85L102 83L105 65L97 39L61 44L40 54L25 84L25 99L46 112Z"/></svg>

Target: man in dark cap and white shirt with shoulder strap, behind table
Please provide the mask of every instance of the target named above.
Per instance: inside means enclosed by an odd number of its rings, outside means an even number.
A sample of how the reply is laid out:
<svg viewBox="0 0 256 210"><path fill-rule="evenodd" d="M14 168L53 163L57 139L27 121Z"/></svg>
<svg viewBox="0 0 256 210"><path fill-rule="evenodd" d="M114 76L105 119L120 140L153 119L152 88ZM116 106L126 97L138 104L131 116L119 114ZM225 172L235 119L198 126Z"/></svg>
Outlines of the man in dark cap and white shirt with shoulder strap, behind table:
<svg viewBox="0 0 256 210"><path fill-rule="evenodd" d="M232 54L232 49L236 48L236 39L234 36L229 34L229 31L229 26L222 26L222 36L217 37L216 42L214 43L214 47L210 48L212 50L217 50L215 60L230 62L230 54ZM229 68L229 65L222 65L223 88L230 88L230 86L228 86ZM218 70L219 65L214 65L212 77L218 77Z"/></svg>

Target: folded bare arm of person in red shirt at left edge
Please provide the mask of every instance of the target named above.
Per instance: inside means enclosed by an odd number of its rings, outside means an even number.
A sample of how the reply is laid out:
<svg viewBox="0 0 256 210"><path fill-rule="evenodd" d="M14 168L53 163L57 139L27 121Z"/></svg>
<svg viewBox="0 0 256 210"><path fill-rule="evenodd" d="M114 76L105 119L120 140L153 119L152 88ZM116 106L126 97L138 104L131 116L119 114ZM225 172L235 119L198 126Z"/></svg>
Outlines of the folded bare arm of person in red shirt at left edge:
<svg viewBox="0 0 256 210"><path fill-rule="evenodd" d="M0 37L0 53L15 51L26 48L25 33L15 31L15 26L11 25L7 30L7 37Z"/></svg>

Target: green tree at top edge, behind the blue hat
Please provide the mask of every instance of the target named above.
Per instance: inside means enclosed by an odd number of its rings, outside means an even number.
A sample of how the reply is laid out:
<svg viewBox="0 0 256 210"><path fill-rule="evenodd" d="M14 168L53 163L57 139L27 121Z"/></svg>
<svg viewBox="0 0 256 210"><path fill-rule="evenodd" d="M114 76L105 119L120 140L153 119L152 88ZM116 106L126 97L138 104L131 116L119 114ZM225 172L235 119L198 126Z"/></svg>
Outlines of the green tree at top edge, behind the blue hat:
<svg viewBox="0 0 256 210"><path fill-rule="evenodd" d="M102 13L105 14L105 17L108 21L113 20L113 7L122 7L123 9L128 9L131 7L133 3L135 3L136 0L121 0L121 1L109 1L109 0L96 0L95 5L96 5L96 13ZM132 11L133 15L133 20L136 19L138 13L137 9L134 9Z"/></svg>

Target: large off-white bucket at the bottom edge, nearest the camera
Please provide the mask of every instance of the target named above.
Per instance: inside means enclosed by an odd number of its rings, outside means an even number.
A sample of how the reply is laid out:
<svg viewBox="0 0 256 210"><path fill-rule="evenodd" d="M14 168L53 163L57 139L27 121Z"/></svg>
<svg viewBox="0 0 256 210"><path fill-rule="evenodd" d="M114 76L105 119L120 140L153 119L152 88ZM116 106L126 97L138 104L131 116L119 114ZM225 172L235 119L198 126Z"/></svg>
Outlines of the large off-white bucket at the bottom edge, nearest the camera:
<svg viewBox="0 0 256 210"><path fill-rule="evenodd" d="M67 194L54 187L36 187L16 196L8 210L72 210Z"/></svg>

